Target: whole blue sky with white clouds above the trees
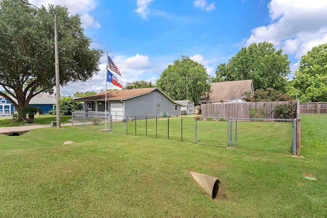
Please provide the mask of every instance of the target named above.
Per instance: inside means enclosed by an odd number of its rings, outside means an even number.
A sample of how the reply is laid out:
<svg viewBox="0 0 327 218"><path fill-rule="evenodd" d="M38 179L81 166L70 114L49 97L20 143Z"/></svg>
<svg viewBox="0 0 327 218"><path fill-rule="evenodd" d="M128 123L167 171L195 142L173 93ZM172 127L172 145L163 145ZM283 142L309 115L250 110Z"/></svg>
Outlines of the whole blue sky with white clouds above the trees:
<svg viewBox="0 0 327 218"><path fill-rule="evenodd" d="M320 0L30 0L66 6L80 14L91 46L104 51L101 70L87 82L69 83L61 95L106 87L106 53L121 71L119 82L152 81L189 56L215 76L243 46L268 41L283 49L292 74L302 55L327 43L327 1ZM60 47L59 47L60 49ZM60 63L59 63L60 67ZM107 89L118 88L107 83Z"/></svg>

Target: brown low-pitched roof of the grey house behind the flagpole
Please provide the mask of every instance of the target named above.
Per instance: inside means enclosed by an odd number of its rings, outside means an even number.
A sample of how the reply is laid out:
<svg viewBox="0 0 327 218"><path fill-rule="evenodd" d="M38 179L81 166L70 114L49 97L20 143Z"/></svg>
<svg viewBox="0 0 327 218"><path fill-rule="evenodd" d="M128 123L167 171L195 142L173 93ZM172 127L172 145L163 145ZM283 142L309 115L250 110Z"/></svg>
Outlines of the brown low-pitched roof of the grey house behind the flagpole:
<svg viewBox="0 0 327 218"><path fill-rule="evenodd" d="M107 91L107 101L125 101L128 99L135 98L137 96L141 96L144 94L148 94L154 90L158 90L160 93L164 94L169 100L174 102L167 94L162 92L160 89L153 87L153 88L138 88L138 89L122 89L122 90L115 90L115 91ZM82 98L77 98L74 99L73 101L78 101L78 102L85 102L85 101L105 101L106 97L106 92L100 92L95 95L87 96L87 97L82 97ZM179 103L178 103L179 104Z"/></svg>

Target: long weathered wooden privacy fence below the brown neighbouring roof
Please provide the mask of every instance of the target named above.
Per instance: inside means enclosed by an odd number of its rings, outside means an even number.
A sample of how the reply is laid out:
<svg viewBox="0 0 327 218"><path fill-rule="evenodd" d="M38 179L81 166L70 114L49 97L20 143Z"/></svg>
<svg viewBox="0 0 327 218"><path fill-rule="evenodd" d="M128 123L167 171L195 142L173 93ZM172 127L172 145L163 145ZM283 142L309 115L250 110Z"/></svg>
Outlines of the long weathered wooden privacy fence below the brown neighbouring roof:
<svg viewBox="0 0 327 218"><path fill-rule="evenodd" d="M262 111L266 119L275 119L274 108L276 105L289 104L290 102L244 102L244 103L217 103L202 104L203 117L235 117L235 118L253 118L250 111ZM293 102L296 111L296 102ZM294 117L296 114L294 114Z"/></svg>

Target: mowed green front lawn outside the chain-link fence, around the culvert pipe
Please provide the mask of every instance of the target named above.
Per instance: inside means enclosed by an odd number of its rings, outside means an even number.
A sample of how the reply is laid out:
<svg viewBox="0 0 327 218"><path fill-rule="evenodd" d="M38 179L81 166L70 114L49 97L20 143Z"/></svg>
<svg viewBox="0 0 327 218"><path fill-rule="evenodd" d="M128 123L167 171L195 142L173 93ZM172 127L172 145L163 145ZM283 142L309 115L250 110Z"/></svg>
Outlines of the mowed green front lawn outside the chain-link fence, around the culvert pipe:
<svg viewBox="0 0 327 218"><path fill-rule="evenodd" d="M327 116L301 127L303 158L77 127L0 135L0 217L326 217ZM215 200L190 171L220 179Z"/></svg>

